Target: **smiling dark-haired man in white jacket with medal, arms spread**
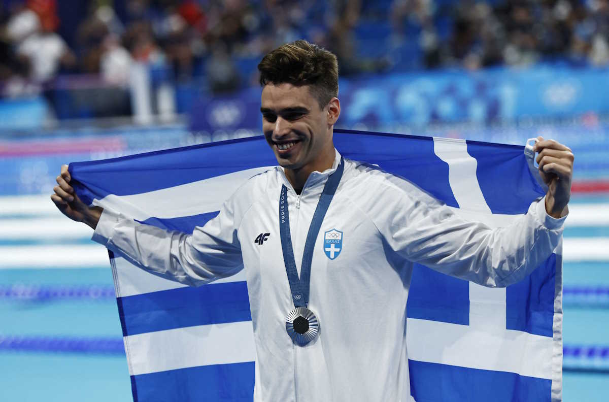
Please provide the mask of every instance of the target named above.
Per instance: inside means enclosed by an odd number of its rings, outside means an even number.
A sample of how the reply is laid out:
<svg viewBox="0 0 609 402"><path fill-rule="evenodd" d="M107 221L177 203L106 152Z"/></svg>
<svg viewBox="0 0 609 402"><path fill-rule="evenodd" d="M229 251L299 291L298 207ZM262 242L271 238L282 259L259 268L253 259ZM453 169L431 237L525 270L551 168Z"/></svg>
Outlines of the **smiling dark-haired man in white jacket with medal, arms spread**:
<svg viewBox="0 0 609 402"><path fill-rule="evenodd" d="M205 226L168 232L86 206L66 166L51 198L94 228L94 240L157 275L197 285L247 268L255 401L408 401L414 263L486 286L526 277L560 241L573 155L539 138L546 197L491 230L406 180L341 157L332 141L333 54L296 41L258 68L262 129L280 166L250 178Z"/></svg>

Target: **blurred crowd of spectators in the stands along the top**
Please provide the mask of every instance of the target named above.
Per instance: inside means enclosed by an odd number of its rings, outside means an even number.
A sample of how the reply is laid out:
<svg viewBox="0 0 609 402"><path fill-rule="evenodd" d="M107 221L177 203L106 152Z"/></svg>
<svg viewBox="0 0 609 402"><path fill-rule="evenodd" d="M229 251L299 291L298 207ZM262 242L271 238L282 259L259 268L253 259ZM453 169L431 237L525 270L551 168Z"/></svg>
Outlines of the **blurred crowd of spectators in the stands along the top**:
<svg viewBox="0 0 609 402"><path fill-rule="evenodd" d="M3 96L44 91L58 74L127 86L133 63L175 82L231 91L256 82L262 54L298 38L334 51L342 76L548 60L609 64L609 0L58 3L0 3ZM74 12L86 4L82 18L61 30L71 3L80 4Z"/></svg>

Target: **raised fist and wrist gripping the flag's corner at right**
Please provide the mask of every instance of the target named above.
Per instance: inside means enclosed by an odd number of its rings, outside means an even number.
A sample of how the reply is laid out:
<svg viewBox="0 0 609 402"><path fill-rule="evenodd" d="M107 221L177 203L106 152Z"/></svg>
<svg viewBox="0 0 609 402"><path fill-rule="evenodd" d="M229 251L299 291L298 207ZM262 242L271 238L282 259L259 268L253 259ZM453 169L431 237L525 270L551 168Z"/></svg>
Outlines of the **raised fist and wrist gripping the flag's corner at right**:
<svg viewBox="0 0 609 402"><path fill-rule="evenodd" d="M533 146L539 164L539 174L546 183L546 212L555 218L569 212L567 203L571 198L571 180L573 178L573 153L571 149L554 139L537 137Z"/></svg>

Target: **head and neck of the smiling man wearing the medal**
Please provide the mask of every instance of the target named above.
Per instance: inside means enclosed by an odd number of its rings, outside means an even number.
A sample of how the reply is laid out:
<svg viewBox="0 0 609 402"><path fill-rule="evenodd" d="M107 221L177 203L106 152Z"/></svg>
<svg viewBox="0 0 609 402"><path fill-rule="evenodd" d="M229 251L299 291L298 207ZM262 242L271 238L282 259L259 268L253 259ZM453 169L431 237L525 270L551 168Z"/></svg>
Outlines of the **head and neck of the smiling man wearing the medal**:
<svg viewBox="0 0 609 402"><path fill-rule="evenodd" d="M332 130L340 115L336 57L298 41L267 54L258 69L262 132L300 193L311 172L323 172L334 161Z"/></svg>

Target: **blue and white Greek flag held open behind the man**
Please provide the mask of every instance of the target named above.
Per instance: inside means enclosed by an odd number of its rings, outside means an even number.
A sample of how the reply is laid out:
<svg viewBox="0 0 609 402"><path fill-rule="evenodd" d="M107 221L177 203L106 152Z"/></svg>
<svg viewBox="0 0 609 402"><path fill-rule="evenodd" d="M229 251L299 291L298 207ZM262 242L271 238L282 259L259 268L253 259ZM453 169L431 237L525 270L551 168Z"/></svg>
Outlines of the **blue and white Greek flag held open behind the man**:
<svg viewBox="0 0 609 402"><path fill-rule="evenodd" d="M545 193L530 146L334 130L346 158L410 180L457 214L508 225ZM262 136L72 163L86 203L190 233L245 180L276 165ZM491 289L415 267L407 305L412 396L560 401L561 246L529 277ZM252 317L243 273L187 287L110 253L134 401L248 401Z"/></svg>

